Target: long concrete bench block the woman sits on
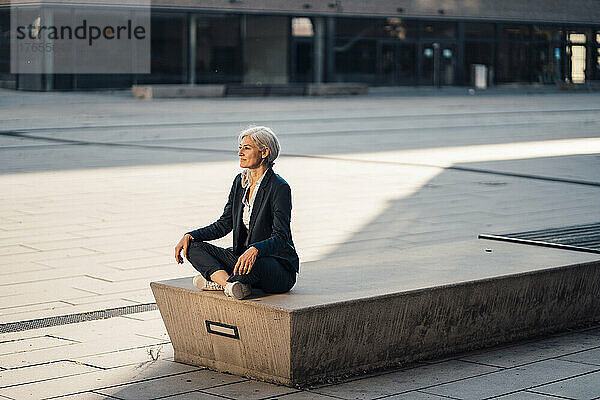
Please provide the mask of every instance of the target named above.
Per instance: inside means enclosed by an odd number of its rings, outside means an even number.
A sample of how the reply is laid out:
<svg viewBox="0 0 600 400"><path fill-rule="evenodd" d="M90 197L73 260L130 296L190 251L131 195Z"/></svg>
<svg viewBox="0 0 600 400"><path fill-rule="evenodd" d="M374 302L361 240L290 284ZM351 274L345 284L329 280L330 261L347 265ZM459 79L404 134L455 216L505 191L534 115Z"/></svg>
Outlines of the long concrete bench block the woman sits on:
<svg viewBox="0 0 600 400"><path fill-rule="evenodd" d="M248 301L199 291L191 278L152 289L176 361L286 385L600 320L597 256L487 241L453 246L458 256L429 246L406 252L422 254L406 254L411 266L382 261L379 287L348 266L346 274L306 271L290 293ZM209 333L206 321L235 326L239 338Z"/></svg>

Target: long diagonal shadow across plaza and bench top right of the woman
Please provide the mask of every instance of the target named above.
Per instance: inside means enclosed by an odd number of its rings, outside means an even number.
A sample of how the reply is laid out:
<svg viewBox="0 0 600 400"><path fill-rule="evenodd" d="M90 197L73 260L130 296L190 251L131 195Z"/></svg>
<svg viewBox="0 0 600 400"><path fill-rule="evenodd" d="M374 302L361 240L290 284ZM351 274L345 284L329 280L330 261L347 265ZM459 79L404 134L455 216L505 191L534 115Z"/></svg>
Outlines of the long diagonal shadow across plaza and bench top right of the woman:
<svg viewBox="0 0 600 400"><path fill-rule="evenodd" d="M351 298L451 284L478 276L479 271L469 270L468 263L458 270L448 265L468 260L473 247L465 243L478 242L479 233L576 225L600 215L600 185L593 181L600 170L597 155L460 166L464 168L443 170L409 196L387 201L380 213L333 244L330 251L303 263L301 268L310 272L302 276L301 271L303 288L320 288L311 289L312 294L345 292ZM508 173L552 166L561 166L565 179L530 179ZM470 167L507 173L482 174L469 171ZM593 185L569 181L569 171L579 169L579 175ZM556 178L561 171L556 171ZM536 264L527 253L530 250L521 255L524 265ZM499 267L497 274L512 271L506 268Z"/></svg>

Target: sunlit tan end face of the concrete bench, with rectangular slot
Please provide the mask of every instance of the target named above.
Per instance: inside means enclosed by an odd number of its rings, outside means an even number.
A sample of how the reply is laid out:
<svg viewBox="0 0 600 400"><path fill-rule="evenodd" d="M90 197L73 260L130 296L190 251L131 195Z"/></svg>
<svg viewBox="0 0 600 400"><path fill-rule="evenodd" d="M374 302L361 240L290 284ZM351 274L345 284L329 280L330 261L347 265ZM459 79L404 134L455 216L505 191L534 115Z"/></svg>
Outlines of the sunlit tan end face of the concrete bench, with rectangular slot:
<svg viewBox="0 0 600 400"><path fill-rule="evenodd" d="M175 350L175 360L291 384L289 310L202 292L191 278L153 282L152 291ZM207 327L207 321L210 324ZM233 326L239 334L228 327ZM212 331L209 332L209 329ZM214 333L217 332L217 333ZM224 332L229 336L219 335Z"/></svg>

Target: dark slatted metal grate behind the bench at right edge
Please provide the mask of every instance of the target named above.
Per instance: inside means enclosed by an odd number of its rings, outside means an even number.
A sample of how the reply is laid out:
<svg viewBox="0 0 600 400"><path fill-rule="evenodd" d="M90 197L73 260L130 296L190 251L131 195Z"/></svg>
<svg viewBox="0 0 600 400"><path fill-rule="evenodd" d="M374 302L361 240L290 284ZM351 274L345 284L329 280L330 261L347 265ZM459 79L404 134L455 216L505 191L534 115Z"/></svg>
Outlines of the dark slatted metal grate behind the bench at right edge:
<svg viewBox="0 0 600 400"><path fill-rule="evenodd" d="M482 233L478 237L600 254L600 222L503 235Z"/></svg>

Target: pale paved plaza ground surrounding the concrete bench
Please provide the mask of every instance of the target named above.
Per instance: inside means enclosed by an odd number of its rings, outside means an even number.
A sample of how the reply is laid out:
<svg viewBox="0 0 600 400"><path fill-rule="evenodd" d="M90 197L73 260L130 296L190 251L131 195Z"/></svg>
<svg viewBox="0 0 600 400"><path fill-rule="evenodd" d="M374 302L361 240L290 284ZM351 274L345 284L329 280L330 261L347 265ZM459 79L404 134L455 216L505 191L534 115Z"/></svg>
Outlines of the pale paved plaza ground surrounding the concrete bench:
<svg viewBox="0 0 600 400"><path fill-rule="evenodd" d="M600 219L598 92L0 90L0 399L600 398L600 325L288 388L174 362L154 308L52 323L152 306L151 281L194 275L173 248L220 215L249 124L280 137L299 280L337 268L376 288L378 257L443 245L443 262L479 233Z"/></svg>

